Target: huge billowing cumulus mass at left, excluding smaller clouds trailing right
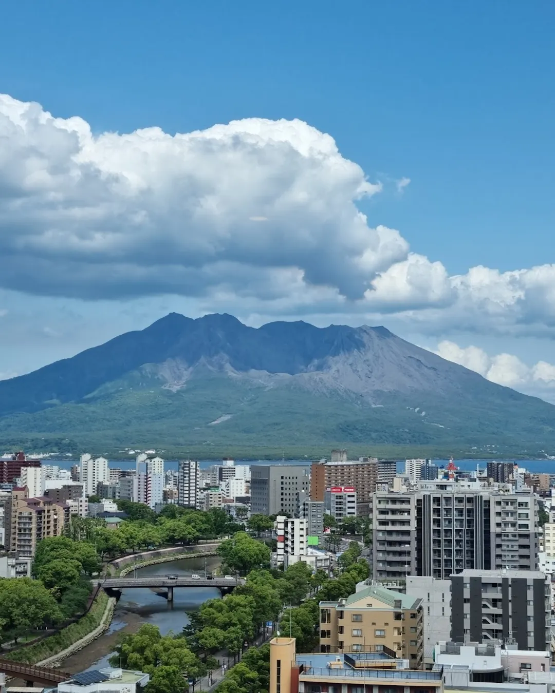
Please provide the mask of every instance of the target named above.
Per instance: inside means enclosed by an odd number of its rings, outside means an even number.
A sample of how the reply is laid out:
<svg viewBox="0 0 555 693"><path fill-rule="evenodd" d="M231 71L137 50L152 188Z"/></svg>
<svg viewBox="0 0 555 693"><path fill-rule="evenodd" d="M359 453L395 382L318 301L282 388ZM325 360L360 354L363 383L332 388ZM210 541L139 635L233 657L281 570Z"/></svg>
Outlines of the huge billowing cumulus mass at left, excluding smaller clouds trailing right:
<svg viewBox="0 0 555 693"><path fill-rule="evenodd" d="M256 294L293 267L357 298L408 252L356 207L380 189L298 120L96 136L0 96L0 283L97 298L250 282Z"/></svg>

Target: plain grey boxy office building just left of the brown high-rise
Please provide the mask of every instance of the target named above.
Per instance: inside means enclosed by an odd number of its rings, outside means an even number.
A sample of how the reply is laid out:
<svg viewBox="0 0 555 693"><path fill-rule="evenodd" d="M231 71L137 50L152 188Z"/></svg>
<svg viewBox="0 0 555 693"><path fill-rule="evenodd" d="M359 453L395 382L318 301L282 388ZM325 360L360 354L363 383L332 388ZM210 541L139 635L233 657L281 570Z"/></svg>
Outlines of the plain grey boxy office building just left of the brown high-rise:
<svg viewBox="0 0 555 693"><path fill-rule="evenodd" d="M250 467L250 512L262 515L297 512L297 494L309 492L309 468L289 464Z"/></svg>

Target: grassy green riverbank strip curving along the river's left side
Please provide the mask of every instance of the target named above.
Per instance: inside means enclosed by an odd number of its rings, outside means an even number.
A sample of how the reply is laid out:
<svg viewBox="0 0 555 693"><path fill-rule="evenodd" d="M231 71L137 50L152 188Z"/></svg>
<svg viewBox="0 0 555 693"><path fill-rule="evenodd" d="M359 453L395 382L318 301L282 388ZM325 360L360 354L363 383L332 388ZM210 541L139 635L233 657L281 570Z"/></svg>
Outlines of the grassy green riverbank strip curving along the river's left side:
<svg viewBox="0 0 555 693"><path fill-rule="evenodd" d="M104 590L101 590L83 618L62 629L59 633L49 635L48 638L44 638L41 642L11 651L6 654L6 659L23 664L36 664L49 657L53 657L98 628L107 605L108 595Z"/></svg>

